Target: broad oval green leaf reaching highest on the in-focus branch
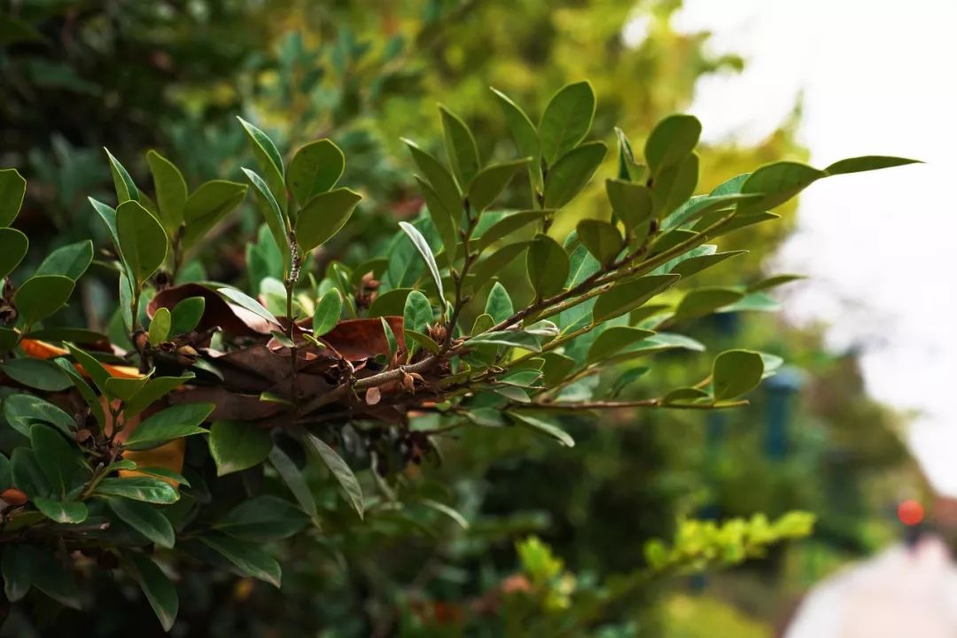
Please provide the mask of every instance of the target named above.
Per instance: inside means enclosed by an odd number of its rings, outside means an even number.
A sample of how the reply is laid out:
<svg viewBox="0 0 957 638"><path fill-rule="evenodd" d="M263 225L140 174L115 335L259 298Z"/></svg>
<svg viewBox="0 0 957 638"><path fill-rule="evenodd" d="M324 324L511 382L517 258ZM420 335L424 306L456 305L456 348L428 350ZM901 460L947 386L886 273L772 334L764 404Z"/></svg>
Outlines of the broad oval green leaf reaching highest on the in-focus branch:
<svg viewBox="0 0 957 638"><path fill-rule="evenodd" d="M548 165L578 145L591 129L595 95L589 82L575 82L552 96L539 122L542 155Z"/></svg>

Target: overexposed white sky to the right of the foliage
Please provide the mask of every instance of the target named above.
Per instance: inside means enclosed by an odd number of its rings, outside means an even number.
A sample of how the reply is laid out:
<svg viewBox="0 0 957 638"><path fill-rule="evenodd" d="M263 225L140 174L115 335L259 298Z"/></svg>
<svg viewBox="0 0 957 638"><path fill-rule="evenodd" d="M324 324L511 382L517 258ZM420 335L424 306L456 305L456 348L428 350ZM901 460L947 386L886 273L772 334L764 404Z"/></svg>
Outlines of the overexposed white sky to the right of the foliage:
<svg viewBox="0 0 957 638"><path fill-rule="evenodd" d="M803 91L812 165L899 155L926 165L838 176L801 195L778 272L812 279L787 300L864 348L870 393L918 409L908 431L934 484L957 495L957 1L685 0L679 28L746 56L691 109L707 140L760 139Z"/></svg>

